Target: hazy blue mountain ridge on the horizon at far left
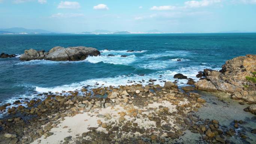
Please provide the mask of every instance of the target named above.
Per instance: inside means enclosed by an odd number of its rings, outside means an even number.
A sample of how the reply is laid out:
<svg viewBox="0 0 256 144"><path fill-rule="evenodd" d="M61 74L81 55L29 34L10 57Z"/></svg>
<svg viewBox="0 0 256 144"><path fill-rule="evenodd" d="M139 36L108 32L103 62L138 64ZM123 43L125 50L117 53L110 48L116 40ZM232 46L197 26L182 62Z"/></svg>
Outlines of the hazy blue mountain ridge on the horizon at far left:
<svg viewBox="0 0 256 144"><path fill-rule="evenodd" d="M31 29L26 29L26 28L1 28L0 31L9 31L12 33L52 33L52 31L47 31L47 30L41 30L41 29L36 29L36 30L31 30Z"/></svg>

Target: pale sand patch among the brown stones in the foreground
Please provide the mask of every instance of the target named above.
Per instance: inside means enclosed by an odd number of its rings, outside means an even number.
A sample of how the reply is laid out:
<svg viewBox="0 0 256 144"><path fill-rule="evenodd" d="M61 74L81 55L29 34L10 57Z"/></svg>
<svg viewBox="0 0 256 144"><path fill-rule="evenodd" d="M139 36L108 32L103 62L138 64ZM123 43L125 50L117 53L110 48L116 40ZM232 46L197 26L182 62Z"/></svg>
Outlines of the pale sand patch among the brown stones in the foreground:
<svg viewBox="0 0 256 144"><path fill-rule="evenodd" d="M184 104L186 102L180 102L180 104ZM149 114L149 113L154 113L155 111L148 111L146 108L152 107L152 108L159 108L159 105L162 105L164 107L168 107L170 112L176 111L176 105L172 105L171 102L169 101L162 101L161 103L159 102L153 102L152 104L147 105L147 107L143 108L138 108L133 105L127 105L126 107L122 107L120 105L115 105L113 107L107 107L107 108L98 108L95 109L94 112L84 112L82 114L77 114L73 117L65 117L65 120L61 121L59 125L57 125L55 128L52 128L50 132L53 132L54 134L45 138L42 136L41 138L35 140L32 144L38 144L38 141L41 140L41 144L60 144L60 141L64 141L65 137L72 136L72 140L75 140L77 137L76 135L79 134L79 136L82 135L83 132L88 132L89 127L98 127L99 125L97 124L97 120L101 120L103 123L107 123L109 121L111 122L118 122L119 119L119 112L127 112L129 108L135 108L137 110L142 110L142 114ZM128 108L129 107L129 108ZM98 113L95 113L95 112ZM112 119L106 120L106 118L100 118L97 117L97 114L106 114L109 113L112 116ZM139 116L140 114L138 114ZM169 116L168 116L169 117ZM132 116L125 116L126 120L133 120L135 119ZM174 119L168 119L173 126L173 121ZM144 127L145 129L154 127L156 124L154 121L150 121L147 119L146 121L144 119L136 119L135 121L138 123L138 126ZM163 123L164 124L164 123ZM67 128L63 128L64 126L67 126ZM69 131L70 129L70 131ZM69 131L69 132L68 132ZM105 128L98 127L97 131L103 131L106 132ZM135 134L141 135L140 133L136 132ZM74 143L74 142L70 142Z"/></svg>

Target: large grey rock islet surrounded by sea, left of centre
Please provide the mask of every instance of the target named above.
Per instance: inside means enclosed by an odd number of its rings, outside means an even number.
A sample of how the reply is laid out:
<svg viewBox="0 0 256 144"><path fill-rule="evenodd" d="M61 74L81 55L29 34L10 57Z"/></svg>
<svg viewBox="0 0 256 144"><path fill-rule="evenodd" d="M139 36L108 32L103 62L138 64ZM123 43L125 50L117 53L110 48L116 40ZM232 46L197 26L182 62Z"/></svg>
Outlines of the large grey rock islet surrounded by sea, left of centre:
<svg viewBox="0 0 256 144"><path fill-rule="evenodd" d="M37 51L34 49L25 50L21 55L22 61L29 61L32 59L45 59L51 61L80 61L86 59L88 56L98 56L100 51L95 48L87 48L84 46L63 48L60 46L54 47L49 52L44 50Z"/></svg>

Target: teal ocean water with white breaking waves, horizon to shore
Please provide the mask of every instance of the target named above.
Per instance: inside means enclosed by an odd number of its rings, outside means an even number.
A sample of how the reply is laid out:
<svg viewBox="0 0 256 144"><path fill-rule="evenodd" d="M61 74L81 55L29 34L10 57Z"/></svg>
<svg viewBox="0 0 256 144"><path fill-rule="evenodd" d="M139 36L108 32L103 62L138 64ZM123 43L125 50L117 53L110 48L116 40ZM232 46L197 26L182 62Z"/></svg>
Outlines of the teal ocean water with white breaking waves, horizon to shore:
<svg viewBox="0 0 256 144"><path fill-rule="evenodd" d="M50 50L54 46L94 47L101 56L74 62L0 59L0 105L18 98L38 98L42 92L73 91L87 85L118 86L142 80L145 85L149 79L163 85L162 80L174 81L177 73L198 80L195 76L204 68L220 70L228 59L256 54L256 33L0 35L0 52L8 54L22 54L30 48ZM186 82L179 80L178 84Z"/></svg>

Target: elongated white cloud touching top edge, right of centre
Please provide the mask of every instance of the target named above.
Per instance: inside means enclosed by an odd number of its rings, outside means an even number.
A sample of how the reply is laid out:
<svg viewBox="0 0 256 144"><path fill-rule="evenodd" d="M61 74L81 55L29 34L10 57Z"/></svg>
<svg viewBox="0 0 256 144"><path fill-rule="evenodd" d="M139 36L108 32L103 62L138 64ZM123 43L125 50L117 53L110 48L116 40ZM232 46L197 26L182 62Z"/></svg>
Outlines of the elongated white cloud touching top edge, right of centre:
<svg viewBox="0 0 256 144"><path fill-rule="evenodd" d="M204 7L204 6L209 6L214 3L220 3L221 0L201 0L201 1L196 1L196 0L191 0L191 1L186 1L185 6L187 7Z"/></svg>

